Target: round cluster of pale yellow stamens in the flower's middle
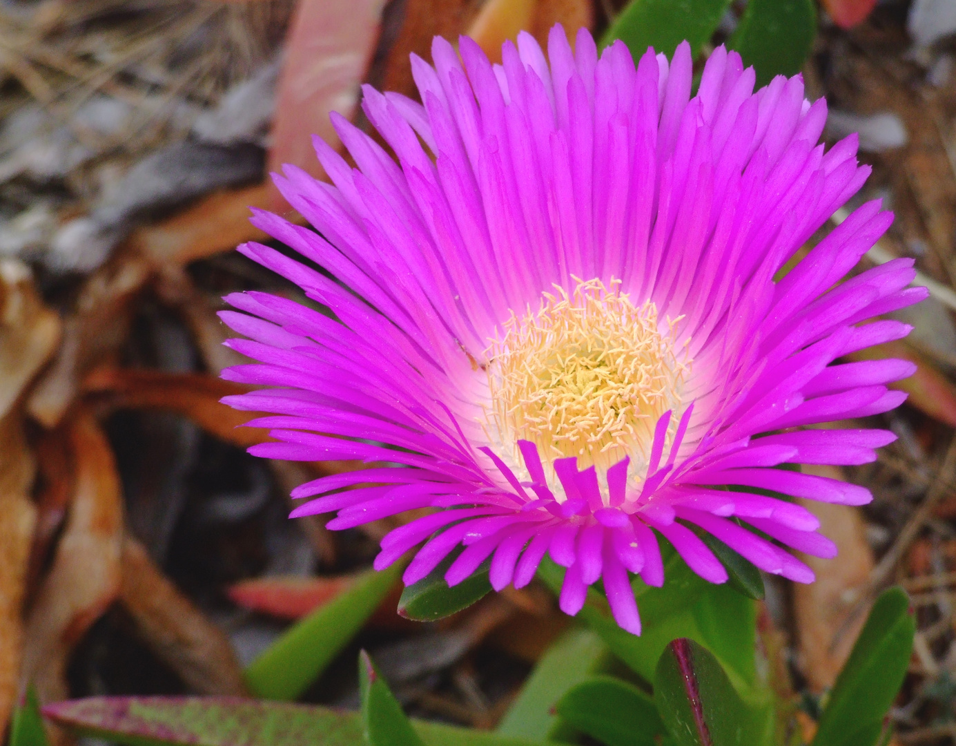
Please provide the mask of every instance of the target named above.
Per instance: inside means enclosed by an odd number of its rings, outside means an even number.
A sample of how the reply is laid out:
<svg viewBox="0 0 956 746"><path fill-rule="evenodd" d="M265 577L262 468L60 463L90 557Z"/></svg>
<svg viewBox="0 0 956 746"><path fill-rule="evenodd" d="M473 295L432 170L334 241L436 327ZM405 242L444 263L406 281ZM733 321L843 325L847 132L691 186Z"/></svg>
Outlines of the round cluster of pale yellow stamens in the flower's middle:
<svg viewBox="0 0 956 746"><path fill-rule="evenodd" d="M646 463L660 417L680 414L687 363L674 322L662 329L655 304L635 306L619 280L576 282L571 294L543 294L537 312L512 312L491 343L489 425L503 443L532 441L547 461L576 456L579 469L625 455Z"/></svg>

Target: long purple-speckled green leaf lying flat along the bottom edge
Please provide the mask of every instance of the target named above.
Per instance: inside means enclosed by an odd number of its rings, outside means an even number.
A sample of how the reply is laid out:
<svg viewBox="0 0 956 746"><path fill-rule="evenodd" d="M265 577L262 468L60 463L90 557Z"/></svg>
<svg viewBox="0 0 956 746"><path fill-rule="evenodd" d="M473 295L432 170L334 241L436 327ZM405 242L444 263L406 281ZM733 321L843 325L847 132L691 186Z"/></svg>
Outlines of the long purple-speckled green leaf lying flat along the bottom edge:
<svg viewBox="0 0 956 746"><path fill-rule="evenodd" d="M236 697L89 697L43 709L58 725L138 746L357 746L359 713ZM534 741L412 721L427 746L532 746Z"/></svg>

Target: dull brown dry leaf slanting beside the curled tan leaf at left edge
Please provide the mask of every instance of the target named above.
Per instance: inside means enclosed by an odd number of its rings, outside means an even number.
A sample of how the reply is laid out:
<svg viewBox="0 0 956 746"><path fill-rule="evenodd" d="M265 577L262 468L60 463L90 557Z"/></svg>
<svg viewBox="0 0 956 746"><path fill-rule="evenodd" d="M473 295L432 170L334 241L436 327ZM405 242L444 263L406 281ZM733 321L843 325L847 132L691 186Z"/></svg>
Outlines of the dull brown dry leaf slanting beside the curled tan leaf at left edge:
<svg viewBox="0 0 956 746"><path fill-rule="evenodd" d="M27 400L27 411L42 425L55 427L76 399L86 372L116 357L129 331L131 301L150 274L146 261L121 255L83 283L76 310L64 324L59 352Z"/></svg>

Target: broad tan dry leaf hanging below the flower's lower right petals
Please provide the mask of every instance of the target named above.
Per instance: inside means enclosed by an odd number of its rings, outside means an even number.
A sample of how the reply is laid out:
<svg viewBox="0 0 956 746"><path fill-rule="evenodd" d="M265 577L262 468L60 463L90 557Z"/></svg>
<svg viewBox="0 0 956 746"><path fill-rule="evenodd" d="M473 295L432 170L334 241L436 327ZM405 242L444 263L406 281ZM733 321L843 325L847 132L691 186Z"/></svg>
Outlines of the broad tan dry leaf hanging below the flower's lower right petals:
<svg viewBox="0 0 956 746"><path fill-rule="evenodd" d="M837 467L803 469L844 479ZM816 581L793 586L800 669L811 690L819 692L833 686L866 620L868 609L860 608L858 602L868 587L874 560L857 508L815 500L800 500L800 504L820 519L820 533L839 549L836 560L802 556L816 573Z"/></svg>

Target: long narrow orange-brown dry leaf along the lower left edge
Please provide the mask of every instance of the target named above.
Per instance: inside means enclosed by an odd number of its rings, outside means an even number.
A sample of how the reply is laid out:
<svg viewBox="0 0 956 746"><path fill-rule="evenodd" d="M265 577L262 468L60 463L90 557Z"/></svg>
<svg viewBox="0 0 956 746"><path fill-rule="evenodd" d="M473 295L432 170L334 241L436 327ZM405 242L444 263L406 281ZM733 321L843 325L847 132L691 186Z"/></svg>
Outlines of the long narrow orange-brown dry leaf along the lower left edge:
<svg viewBox="0 0 956 746"><path fill-rule="evenodd" d="M23 599L36 511L30 499L33 454L15 410L0 420L0 733L16 698L23 642Z"/></svg>

